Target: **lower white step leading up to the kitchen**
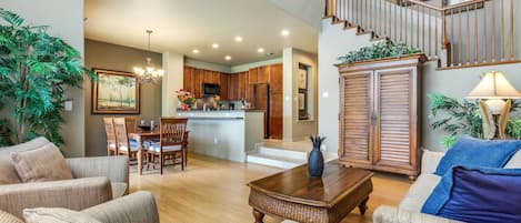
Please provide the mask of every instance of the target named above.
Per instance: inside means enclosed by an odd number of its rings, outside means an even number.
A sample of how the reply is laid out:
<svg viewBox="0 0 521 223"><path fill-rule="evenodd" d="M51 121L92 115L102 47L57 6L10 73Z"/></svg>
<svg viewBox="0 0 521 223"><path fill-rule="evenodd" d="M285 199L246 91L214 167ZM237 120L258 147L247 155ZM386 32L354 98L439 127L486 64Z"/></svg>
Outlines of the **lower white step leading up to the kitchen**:
<svg viewBox="0 0 521 223"><path fill-rule="evenodd" d="M280 169L292 169L307 163L305 159L292 159L284 156L265 155L261 153L251 153L247 156L248 163L257 163Z"/></svg>

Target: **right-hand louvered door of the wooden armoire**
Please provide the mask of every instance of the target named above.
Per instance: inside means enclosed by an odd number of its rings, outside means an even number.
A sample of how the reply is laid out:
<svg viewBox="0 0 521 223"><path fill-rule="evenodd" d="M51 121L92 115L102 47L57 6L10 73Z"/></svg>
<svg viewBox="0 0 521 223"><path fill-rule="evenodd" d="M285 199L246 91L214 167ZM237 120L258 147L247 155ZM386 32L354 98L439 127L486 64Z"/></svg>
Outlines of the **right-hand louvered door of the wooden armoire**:
<svg viewBox="0 0 521 223"><path fill-rule="evenodd" d="M412 169L415 163L413 95L414 69L375 71L374 164Z"/></svg>

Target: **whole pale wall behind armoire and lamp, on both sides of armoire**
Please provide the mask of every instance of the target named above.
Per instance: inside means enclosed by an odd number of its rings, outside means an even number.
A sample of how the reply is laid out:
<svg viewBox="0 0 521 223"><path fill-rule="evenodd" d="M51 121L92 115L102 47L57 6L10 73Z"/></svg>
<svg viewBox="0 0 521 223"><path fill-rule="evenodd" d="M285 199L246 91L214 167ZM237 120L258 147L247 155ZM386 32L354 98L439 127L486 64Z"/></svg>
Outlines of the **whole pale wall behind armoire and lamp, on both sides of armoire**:
<svg viewBox="0 0 521 223"><path fill-rule="evenodd" d="M518 26L519 23L521 22L518 22ZM521 30L521 26L518 30ZM515 45L518 52L521 52L519 37L518 32ZM337 58L372 43L368 36L355 36L352 30L342 30L341 24L331 26L331 20L323 20L319 36L319 134L328 136L325 146L329 152L337 152L339 146L339 72L334 67L339 62ZM429 126L431 123L428 118L430 101L427 94L442 93L462 100L479 82L480 75L492 70L504 72L510 82L521 90L521 63L440 71L437 70L435 62L424 65L421 97L423 109L421 145L423 148L443 150L439 143L443 133L434 132Z"/></svg>

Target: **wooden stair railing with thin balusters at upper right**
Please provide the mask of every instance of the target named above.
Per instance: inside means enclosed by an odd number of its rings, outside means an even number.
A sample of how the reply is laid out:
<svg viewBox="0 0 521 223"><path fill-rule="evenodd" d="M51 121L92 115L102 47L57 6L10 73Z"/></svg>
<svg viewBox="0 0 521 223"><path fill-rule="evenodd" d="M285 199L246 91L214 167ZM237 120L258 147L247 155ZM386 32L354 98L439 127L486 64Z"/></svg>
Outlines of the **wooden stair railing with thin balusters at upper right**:
<svg viewBox="0 0 521 223"><path fill-rule="evenodd" d="M434 6L420 0L325 0L324 17L372 40L422 50L440 68L519 62L517 0L470 0Z"/></svg>

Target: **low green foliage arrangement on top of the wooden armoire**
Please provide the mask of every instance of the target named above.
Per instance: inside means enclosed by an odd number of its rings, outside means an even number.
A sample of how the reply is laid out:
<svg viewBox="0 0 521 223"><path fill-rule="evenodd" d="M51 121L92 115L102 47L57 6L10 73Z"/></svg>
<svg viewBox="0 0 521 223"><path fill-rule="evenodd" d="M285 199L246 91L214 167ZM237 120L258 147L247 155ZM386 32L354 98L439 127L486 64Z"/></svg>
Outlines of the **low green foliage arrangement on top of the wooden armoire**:
<svg viewBox="0 0 521 223"><path fill-rule="evenodd" d="M370 47L363 47L359 50L350 51L345 55L339 57L344 63L353 63L367 60L377 60L383 58L401 57L420 53L415 48L410 48L404 43L378 42Z"/></svg>

